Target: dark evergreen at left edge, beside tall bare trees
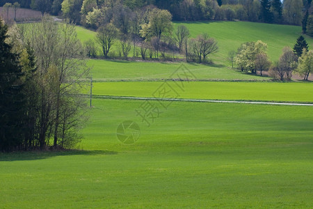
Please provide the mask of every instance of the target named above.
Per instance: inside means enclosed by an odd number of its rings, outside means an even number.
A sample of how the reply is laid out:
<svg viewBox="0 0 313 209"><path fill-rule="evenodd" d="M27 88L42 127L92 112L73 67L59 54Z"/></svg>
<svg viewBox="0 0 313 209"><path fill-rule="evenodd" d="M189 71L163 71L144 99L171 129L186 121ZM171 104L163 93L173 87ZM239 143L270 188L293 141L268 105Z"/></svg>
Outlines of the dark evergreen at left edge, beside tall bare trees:
<svg viewBox="0 0 313 209"><path fill-rule="evenodd" d="M19 55L6 43L8 26L0 19L0 150L20 149L24 131L25 100Z"/></svg>

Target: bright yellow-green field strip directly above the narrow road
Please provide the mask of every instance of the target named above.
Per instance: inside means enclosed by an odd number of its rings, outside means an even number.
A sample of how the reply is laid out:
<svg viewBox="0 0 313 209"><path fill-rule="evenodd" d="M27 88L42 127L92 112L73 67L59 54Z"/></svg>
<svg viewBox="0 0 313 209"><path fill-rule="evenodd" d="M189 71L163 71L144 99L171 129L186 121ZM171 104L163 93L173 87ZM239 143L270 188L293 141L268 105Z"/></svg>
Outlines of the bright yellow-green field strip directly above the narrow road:
<svg viewBox="0 0 313 209"><path fill-rule="evenodd" d="M179 86L183 88L179 88ZM274 82L102 82L94 83L95 95L162 97L155 93L160 86L170 88L171 98L207 100L256 100L313 102L311 83ZM168 96L166 96L168 98Z"/></svg>

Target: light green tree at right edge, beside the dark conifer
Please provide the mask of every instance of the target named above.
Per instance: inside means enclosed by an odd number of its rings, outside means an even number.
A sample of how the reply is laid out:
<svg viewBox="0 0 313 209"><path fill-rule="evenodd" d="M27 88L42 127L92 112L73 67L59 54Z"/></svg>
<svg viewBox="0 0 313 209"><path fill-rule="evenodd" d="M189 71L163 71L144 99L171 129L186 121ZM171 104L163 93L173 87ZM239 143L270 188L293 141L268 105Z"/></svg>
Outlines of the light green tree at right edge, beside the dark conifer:
<svg viewBox="0 0 313 209"><path fill-rule="evenodd" d="M298 68L295 70L301 76L304 76L304 80L307 81L310 73L313 72L313 51L303 49L302 55L298 59Z"/></svg>

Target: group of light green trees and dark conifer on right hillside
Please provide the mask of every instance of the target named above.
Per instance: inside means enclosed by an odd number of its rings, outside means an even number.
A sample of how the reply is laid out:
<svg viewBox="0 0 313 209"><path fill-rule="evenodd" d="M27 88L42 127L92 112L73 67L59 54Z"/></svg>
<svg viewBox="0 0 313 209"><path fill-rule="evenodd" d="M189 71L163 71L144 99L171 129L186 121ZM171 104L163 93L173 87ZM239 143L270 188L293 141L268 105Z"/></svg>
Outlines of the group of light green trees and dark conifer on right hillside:
<svg viewBox="0 0 313 209"><path fill-rule="evenodd" d="M266 54L266 43L244 42L237 52L229 53L229 60L232 66L235 63L237 68L243 72L250 72L262 75L262 72L269 70L269 75L276 79L291 79L293 72L298 72L305 80L313 71L313 51L308 50L307 42L300 36L297 39L294 49L284 47L278 61L271 63Z"/></svg>

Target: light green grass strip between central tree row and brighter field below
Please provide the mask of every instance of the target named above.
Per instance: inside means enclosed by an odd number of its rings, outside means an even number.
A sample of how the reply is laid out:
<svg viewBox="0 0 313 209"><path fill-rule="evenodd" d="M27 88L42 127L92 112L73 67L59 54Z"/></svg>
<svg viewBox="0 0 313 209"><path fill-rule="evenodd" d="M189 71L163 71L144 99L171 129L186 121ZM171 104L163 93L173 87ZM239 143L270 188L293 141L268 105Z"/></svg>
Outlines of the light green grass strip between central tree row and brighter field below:
<svg viewBox="0 0 313 209"><path fill-rule="evenodd" d="M162 62L131 62L131 61L107 61L101 59L90 59L88 66L93 67L90 75L96 81L153 81L169 79L181 63ZM245 80L262 81L269 80L268 77L247 75L223 65L199 65L184 63L198 80ZM178 78L178 77L175 77Z"/></svg>

